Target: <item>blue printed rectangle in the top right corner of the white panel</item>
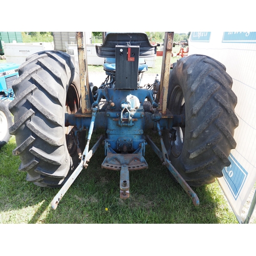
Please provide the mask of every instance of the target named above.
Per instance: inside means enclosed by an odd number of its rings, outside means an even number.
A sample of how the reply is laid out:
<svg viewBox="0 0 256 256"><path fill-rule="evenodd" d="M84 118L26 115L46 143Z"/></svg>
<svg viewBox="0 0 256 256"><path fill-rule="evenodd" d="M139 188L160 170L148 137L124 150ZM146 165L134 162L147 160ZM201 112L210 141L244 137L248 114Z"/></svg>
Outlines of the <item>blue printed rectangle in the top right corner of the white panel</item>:
<svg viewBox="0 0 256 256"><path fill-rule="evenodd" d="M224 32L222 42L256 42L256 32Z"/></svg>

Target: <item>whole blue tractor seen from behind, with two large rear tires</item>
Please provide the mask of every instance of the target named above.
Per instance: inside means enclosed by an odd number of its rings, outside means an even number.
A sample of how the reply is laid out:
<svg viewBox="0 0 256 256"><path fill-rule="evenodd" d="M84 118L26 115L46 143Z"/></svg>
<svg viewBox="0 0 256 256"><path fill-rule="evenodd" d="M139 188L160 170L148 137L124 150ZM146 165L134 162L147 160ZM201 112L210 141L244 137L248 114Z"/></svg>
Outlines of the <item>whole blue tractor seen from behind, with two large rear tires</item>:
<svg viewBox="0 0 256 256"><path fill-rule="evenodd" d="M155 47L145 33L108 33L99 57L108 75L91 89L83 33L77 32L78 58L59 51L31 55L19 67L13 84L16 98L9 109L16 136L19 170L38 186L60 187L60 199L90 158L104 143L102 168L120 172L120 198L130 197L131 170L147 168L150 145L170 176L183 187L194 205L199 199L191 186L222 176L230 165L230 150L238 119L232 79L219 61L204 55L181 58L170 70L173 32L165 32L161 81L144 88L140 77ZM104 129L90 148L95 128ZM147 131L159 135L159 149Z"/></svg>

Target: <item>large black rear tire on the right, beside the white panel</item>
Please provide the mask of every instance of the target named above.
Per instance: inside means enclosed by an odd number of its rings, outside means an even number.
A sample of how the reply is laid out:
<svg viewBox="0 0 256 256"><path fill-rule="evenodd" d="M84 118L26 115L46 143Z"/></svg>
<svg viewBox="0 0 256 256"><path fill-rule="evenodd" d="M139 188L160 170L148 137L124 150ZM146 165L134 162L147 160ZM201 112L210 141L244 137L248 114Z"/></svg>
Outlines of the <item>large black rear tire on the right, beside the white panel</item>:
<svg viewBox="0 0 256 256"><path fill-rule="evenodd" d="M204 55L178 60L170 72L167 109L185 115L185 127L174 127L176 140L164 131L169 160L190 186L201 186L222 177L238 118L232 78L219 61Z"/></svg>

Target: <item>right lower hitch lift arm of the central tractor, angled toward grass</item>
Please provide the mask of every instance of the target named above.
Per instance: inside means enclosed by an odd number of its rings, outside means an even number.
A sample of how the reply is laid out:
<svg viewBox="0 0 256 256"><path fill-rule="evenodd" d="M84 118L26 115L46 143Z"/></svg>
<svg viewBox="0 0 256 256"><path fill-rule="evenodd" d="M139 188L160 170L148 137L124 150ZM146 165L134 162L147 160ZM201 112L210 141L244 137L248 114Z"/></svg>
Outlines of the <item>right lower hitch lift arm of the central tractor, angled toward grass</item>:
<svg viewBox="0 0 256 256"><path fill-rule="evenodd" d="M159 150L159 148L156 146L156 144L151 140L151 138L147 135L146 141L148 145L150 145L154 152L157 154L157 156L164 161L165 166L168 168L170 173L174 176L174 178L179 182L179 184L182 186L182 188L185 190L187 195L192 199L193 204L195 206L199 206L199 198L197 194L194 192L194 190L186 183L186 181L181 177L181 175L178 173L178 171L175 169L175 167L170 163L168 159L166 159L163 155L163 153ZM164 145L161 146L165 148ZM166 150L165 150L166 151ZM164 159L164 160L163 160Z"/></svg>

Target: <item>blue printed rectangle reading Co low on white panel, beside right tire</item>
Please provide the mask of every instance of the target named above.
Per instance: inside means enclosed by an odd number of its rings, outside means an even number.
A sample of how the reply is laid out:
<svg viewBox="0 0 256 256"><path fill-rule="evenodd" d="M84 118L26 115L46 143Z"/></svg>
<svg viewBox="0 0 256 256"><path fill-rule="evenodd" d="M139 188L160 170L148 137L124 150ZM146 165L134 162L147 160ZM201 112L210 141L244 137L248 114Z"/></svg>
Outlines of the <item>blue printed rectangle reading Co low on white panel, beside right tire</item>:
<svg viewBox="0 0 256 256"><path fill-rule="evenodd" d="M223 178L228 184L234 199L237 200L248 173L232 154L229 155L228 159L231 164L223 168Z"/></svg>

